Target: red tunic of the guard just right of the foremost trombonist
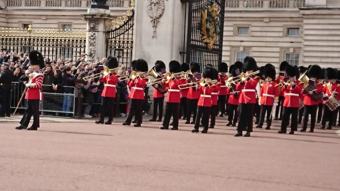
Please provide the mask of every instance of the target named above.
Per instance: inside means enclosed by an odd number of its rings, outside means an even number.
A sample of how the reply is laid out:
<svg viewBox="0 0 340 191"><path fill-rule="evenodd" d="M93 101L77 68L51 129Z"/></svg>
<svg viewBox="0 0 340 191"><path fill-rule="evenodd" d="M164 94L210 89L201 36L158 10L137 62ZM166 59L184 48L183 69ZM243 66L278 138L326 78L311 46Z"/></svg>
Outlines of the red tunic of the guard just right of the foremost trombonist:
<svg viewBox="0 0 340 191"><path fill-rule="evenodd" d="M275 82L265 82L261 87L261 105L273 105L275 97L278 97L278 85Z"/></svg>

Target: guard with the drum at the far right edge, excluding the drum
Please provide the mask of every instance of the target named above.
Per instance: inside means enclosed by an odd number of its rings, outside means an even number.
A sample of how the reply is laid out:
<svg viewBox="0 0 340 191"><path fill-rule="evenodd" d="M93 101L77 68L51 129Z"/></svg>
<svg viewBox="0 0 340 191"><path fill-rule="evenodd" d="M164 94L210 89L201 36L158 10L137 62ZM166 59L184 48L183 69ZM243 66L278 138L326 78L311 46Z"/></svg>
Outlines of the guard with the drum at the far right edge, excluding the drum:
<svg viewBox="0 0 340 191"><path fill-rule="evenodd" d="M335 82L336 78L336 70L328 67L326 68L325 77L328 80L328 82L323 87L323 92L325 95L329 98L331 95L334 95L336 98L340 98L340 84ZM323 99L323 97L322 97ZM326 104L323 104L323 114L322 114L322 120L321 120L321 129L325 128L326 125L326 118L328 118L328 127L327 129L332 128L333 124L333 113L334 111L331 111Z"/></svg>

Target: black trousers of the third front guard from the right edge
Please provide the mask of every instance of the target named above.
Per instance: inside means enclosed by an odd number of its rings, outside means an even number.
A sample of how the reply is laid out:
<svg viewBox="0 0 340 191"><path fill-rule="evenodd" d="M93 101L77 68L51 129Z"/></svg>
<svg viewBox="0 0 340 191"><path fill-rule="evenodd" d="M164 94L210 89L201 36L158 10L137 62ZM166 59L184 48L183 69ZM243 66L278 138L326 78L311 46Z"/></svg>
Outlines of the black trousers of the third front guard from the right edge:
<svg viewBox="0 0 340 191"><path fill-rule="evenodd" d="M297 107L283 107L282 122L281 122L281 130L283 131L287 130L290 114L291 114L290 130L291 131L297 130L298 108Z"/></svg>

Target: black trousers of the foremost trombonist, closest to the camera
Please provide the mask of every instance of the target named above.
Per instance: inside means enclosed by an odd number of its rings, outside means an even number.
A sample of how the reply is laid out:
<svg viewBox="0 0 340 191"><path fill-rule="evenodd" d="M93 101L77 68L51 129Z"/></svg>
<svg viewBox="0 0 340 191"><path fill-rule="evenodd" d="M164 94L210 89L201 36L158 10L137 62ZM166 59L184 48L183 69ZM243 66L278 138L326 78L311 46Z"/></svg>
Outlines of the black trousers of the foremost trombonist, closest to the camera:
<svg viewBox="0 0 340 191"><path fill-rule="evenodd" d="M237 131L246 130L252 132L252 117L254 110L254 103L239 103L239 118L237 124Z"/></svg>

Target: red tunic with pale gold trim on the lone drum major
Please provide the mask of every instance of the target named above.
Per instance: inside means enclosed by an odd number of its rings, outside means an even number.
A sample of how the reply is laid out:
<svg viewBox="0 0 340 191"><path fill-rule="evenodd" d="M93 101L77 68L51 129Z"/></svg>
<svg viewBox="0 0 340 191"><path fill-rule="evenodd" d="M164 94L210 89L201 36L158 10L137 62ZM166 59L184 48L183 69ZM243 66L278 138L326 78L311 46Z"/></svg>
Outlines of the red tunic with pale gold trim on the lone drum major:
<svg viewBox="0 0 340 191"><path fill-rule="evenodd" d="M28 82L31 86L27 88L25 99L40 99L40 89L42 86L43 74L39 71L33 72L33 77ZM42 91L41 91L42 99Z"/></svg>

